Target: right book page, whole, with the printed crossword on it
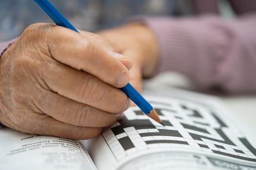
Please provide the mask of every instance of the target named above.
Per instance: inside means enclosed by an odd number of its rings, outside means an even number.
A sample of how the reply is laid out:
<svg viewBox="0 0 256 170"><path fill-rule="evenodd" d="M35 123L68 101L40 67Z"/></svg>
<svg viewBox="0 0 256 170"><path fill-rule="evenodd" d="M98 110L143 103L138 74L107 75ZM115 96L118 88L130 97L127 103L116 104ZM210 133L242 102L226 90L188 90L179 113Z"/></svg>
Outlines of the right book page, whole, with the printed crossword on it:
<svg viewBox="0 0 256 170"><path fill-rule="evenodd" d="M98 138L81 141L98 170L256 169L256 139L236 127L218 99L167 91L145 95L165 126L132 107Z"/></svg>

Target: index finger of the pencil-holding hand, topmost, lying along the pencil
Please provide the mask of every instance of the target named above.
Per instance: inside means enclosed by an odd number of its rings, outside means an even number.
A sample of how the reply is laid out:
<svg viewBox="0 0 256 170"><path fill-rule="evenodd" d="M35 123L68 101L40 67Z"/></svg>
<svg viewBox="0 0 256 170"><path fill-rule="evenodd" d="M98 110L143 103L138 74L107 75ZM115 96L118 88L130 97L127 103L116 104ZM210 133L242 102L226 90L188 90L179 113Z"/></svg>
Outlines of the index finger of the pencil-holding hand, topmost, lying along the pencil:
<svg viewBox="0 0 256 170"><path fill-rule="evenodd" d="M56 26L48 34L48 39L51 55L57 61L84 70L116 87L128 83L129 72L119 61L120 54L107 51L88 36Z"/></svg>

